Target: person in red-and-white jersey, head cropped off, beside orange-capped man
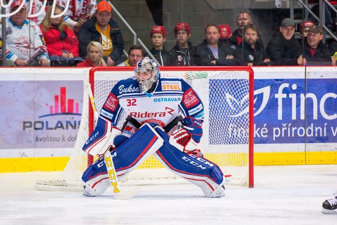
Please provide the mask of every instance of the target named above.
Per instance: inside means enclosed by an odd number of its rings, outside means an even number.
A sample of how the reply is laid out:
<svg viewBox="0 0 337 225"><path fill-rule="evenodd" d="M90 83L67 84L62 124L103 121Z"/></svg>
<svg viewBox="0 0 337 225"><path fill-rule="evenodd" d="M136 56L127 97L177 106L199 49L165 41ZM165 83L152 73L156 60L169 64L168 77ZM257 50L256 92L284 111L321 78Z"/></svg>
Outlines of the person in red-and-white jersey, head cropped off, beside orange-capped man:
<svg viewBox="0 0 337 225"><path fill-rule="evenodd" d="M63 9L66 7L68 0L57 0ZM75 33L79 32L80 27L90 18L97 10L96 0L71 0L64 17L64 21L69 24ZM63 10L62 10L63 11Z"/></svg>

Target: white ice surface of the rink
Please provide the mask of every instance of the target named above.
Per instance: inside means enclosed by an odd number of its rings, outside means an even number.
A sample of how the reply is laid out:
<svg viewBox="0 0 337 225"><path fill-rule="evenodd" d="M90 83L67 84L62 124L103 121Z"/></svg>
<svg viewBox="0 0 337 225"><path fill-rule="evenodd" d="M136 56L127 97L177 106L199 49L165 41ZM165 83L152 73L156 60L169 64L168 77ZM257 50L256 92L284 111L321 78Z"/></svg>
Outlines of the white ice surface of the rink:
<svg viewBox="0 0 337 225"><path fill-rule="evenodd" d="M255 167L255 187L226 186L223 198L206 198L192 184L140 186L116 200L79 192L34 189L59 173L0 174L0 225L335 225L322 214L337 190L337 165ZM111 191L111 189L110 189Z"/></svg>

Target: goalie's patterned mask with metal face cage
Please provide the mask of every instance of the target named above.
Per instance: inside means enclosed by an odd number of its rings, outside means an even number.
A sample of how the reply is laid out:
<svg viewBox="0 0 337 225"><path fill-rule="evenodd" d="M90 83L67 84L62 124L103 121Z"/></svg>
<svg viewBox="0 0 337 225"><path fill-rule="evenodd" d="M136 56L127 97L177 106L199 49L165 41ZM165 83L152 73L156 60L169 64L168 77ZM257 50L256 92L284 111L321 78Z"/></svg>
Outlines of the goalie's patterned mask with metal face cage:
<svg viewBox="0 0 337 225"><path fill-rule="evenodd" d="M160 74L157 63L149 57L145 57L137 63L134 73L139 83L139 89L143 93L158 81Z"/></svg>

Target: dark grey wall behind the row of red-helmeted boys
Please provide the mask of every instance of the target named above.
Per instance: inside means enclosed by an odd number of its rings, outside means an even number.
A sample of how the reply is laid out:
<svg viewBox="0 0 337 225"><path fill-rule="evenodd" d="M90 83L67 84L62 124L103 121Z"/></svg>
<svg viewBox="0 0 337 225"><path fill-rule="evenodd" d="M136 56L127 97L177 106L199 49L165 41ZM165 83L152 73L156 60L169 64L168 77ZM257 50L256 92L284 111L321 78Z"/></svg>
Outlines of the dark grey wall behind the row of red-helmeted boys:
<svg viewBox="0 0 337 225"><path fill-rule="evenodd" d="M146 1L111 1L143 43L151 48L149 33L155 23ZM280 2L283 6L286 5L284 1ZM281 20L290 15L289 9L277 8L275 0L163 0L163 25L168 33L165 48L169 50L175 45L173 28L178 22L187 22L190 25L190 41L199 45L205 38L204 30L209 23L229 24L233 31L237 29L236 15L242 10L251 13L254 23L260 28L264 45L267 45ZM113 18L122 29L127 50L133 44L133 36L116 15Z"/></svg>

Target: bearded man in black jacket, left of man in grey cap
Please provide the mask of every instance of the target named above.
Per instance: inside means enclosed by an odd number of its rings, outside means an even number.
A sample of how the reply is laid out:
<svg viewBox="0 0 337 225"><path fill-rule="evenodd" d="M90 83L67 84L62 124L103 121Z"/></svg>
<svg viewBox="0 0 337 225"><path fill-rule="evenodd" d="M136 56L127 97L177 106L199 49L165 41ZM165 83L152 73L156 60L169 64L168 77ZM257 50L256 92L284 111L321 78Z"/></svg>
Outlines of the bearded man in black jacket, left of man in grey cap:
<svg viewBox="0 0 337 225"><path fill-rule="evenodd" d="M269 55L258 39L258 28L248 24L244 29L244 47L238 45L234 50L234 57L243 62L244 66L270 66ZM243 53L242 53L243 52Z"/></svg>

